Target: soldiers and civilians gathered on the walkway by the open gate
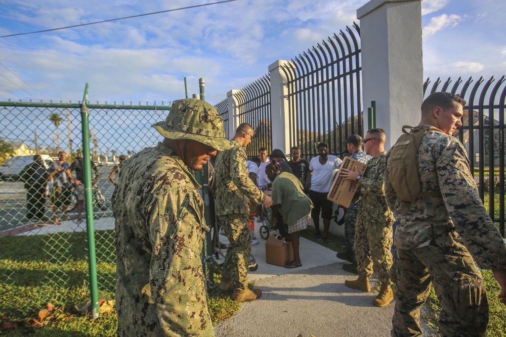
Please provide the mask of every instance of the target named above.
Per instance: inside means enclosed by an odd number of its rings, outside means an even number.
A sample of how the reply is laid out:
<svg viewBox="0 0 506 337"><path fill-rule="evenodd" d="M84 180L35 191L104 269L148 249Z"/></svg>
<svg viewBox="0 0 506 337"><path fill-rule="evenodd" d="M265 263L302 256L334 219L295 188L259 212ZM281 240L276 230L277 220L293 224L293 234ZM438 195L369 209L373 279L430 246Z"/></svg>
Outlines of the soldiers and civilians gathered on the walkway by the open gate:
<svg viewBox="0 0 506 337"><path fill-rule="evenodd" d="M356 167L340 170L358 188L346 213L346 251L338 257L358 275L345 281L347 287L370 292L375 271L381 288L372 303L383 307L395 298L393 336L421 335L419 311L431 284L441 303L442 335L485 335L488 303L480 268L492 270L506 304L506 247L479 198L466 151L452 136L464 105L458 95L440 92L421 106L419 125L432 128L416 150L417 160L401 163L418 172L421 192L408 201L399 197L403 191L392 173L399 157L385 151L385 131L373 128L364 138L346 139L348 156L367 166L363 174ZM214 336L200 254L210 228L201 186L190 170L217 156L215 212L229 240L218 287L246 302L262 295L248 286L248 201L272 210L272 221L292 242L294 259L285 267L300 267L300 235L311 222L316 239L331 242L327 193L342 158L320 142L310 162L296 146L289 161L281 150L268 156L265 148L248 160L244 148L254 128L240 124L229 141L217 110L195 99L174 101L165 121L153 127L162 141L124 161L112 197L118 335Z"/></svg>

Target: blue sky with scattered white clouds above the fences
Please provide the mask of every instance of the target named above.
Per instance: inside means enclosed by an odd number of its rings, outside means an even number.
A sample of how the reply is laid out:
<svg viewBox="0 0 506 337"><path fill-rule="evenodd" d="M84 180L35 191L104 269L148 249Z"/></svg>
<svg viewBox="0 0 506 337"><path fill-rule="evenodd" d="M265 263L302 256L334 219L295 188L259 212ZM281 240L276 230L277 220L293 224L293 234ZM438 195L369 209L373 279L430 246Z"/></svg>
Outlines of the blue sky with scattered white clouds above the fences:
<svg viewBox="0 0 506 337"><path fill-rule="evenodd" d="M4 0L0 35L151 13L216 0ZM216 104L278 59L290 60L356 18L366 0L238 0L46 33L0 38L0 101L172 101L206 83ZM424 72L506 74L506 1L424 0Z"/></svg>

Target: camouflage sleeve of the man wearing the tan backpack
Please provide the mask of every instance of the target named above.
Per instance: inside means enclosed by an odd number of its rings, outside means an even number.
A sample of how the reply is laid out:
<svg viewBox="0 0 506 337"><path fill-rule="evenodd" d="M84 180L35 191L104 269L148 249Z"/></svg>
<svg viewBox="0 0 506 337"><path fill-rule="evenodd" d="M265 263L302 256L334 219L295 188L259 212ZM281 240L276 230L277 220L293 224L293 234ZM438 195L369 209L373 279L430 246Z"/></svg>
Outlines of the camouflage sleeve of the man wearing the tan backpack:
<svg viewBox="0 0 506 337"><path fill-rule="evenodd" d="M455 230L480 268L506 268L506 247L480 199L466 150L449 137L433 149L441 194Z"/></svg>

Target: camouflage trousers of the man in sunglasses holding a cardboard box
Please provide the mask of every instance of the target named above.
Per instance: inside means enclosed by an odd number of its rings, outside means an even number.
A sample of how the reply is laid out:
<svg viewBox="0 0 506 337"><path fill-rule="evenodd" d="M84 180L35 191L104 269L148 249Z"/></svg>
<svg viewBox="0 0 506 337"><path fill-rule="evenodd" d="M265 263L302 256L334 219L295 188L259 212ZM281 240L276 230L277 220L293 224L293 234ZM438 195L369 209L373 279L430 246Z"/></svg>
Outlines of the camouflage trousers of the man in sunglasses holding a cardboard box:
<svg viewBox="0 0 506 337"><path fill-rule="evenodd" d="M369 277L374 269L382 283L390 284L393 223L375 222L359 215L355 231L355 255L360 276Z"/></svg>

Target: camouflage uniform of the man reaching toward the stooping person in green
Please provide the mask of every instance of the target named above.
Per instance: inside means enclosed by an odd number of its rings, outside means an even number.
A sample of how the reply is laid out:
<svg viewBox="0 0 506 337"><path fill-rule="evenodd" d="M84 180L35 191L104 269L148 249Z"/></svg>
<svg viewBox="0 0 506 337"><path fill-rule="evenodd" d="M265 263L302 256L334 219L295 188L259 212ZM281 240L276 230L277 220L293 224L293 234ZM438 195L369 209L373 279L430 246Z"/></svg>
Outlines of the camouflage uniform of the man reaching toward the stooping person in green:
<svg viewBox="0 0 506 337"><path fill-rule="evenodd" d="M266 196L248 177L246 152L236 139L232 148L216 156L216 214L230 244L222 275L231 278L236 289L248 284L247 267L251 253L248 198L261 204Z"/></svg>

